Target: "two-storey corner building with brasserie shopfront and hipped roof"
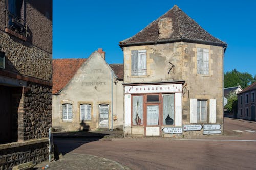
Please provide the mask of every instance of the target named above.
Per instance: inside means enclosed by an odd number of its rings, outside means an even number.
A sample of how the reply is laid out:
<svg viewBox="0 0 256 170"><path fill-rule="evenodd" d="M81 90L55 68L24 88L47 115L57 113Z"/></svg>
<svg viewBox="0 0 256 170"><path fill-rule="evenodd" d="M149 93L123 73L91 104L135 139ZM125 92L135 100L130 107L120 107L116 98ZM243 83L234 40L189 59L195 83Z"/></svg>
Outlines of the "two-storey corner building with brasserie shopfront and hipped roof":
<svg viewBox="0 0 256 170"><path fill-rule="evenodd" d="M174 6L119 46L125 135L222 133L226 43Z"/></svg>

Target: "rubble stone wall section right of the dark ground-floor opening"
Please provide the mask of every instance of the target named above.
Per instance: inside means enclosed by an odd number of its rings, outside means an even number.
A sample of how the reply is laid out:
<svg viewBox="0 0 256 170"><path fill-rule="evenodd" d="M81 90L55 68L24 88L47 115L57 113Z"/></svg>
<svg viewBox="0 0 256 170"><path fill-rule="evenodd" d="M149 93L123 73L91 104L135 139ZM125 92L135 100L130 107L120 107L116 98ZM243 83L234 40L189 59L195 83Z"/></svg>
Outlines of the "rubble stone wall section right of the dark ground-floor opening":
<svg viewBox="0 0 256 170"><path fill-rule="evenodd" d="M24 140L48 136L52 127L52 87L28 83L24 90Z"/></svg>

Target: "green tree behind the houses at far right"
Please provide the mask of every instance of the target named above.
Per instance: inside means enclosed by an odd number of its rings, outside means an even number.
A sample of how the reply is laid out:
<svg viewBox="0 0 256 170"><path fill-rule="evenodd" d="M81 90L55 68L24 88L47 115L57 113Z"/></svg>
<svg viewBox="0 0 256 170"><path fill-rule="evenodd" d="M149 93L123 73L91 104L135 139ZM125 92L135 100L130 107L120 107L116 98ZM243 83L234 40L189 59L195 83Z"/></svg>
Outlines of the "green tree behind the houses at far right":
<svg viewBox="0 0 256 170"><path fill-rule="evenodd" d="M224 74L224 88L240 85L244 89L255 81L256 75L253 78L248 72L239 72L236 69Z"/></svg>

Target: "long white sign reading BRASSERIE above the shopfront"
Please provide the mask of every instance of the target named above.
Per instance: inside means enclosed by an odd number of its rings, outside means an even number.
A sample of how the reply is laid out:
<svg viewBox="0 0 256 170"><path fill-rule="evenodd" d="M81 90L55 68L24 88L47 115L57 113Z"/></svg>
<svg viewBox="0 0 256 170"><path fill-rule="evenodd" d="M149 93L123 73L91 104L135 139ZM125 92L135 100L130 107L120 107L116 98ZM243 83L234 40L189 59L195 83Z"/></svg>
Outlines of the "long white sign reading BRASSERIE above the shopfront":
<svg viewBox="0 0 256 170"><path fill-rule="evenodd" d="M160 92L181 92L182 84L160 84L160 85L141 85L125 86L126 94L133 93L160 93Z"/></svg>

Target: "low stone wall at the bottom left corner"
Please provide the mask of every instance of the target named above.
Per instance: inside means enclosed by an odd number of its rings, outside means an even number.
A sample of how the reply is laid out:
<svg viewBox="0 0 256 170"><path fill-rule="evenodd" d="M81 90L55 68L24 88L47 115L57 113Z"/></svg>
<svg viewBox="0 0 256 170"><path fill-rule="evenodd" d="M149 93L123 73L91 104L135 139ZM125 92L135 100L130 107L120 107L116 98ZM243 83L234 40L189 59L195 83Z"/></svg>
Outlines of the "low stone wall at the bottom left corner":
<svg viewBox="0 0 256 170"><path fill-rule="evenodd" d="M13 166L32 161L34 164L48 159L48 139L28 143L0 145L0 169L11 169Z"/></svg>

